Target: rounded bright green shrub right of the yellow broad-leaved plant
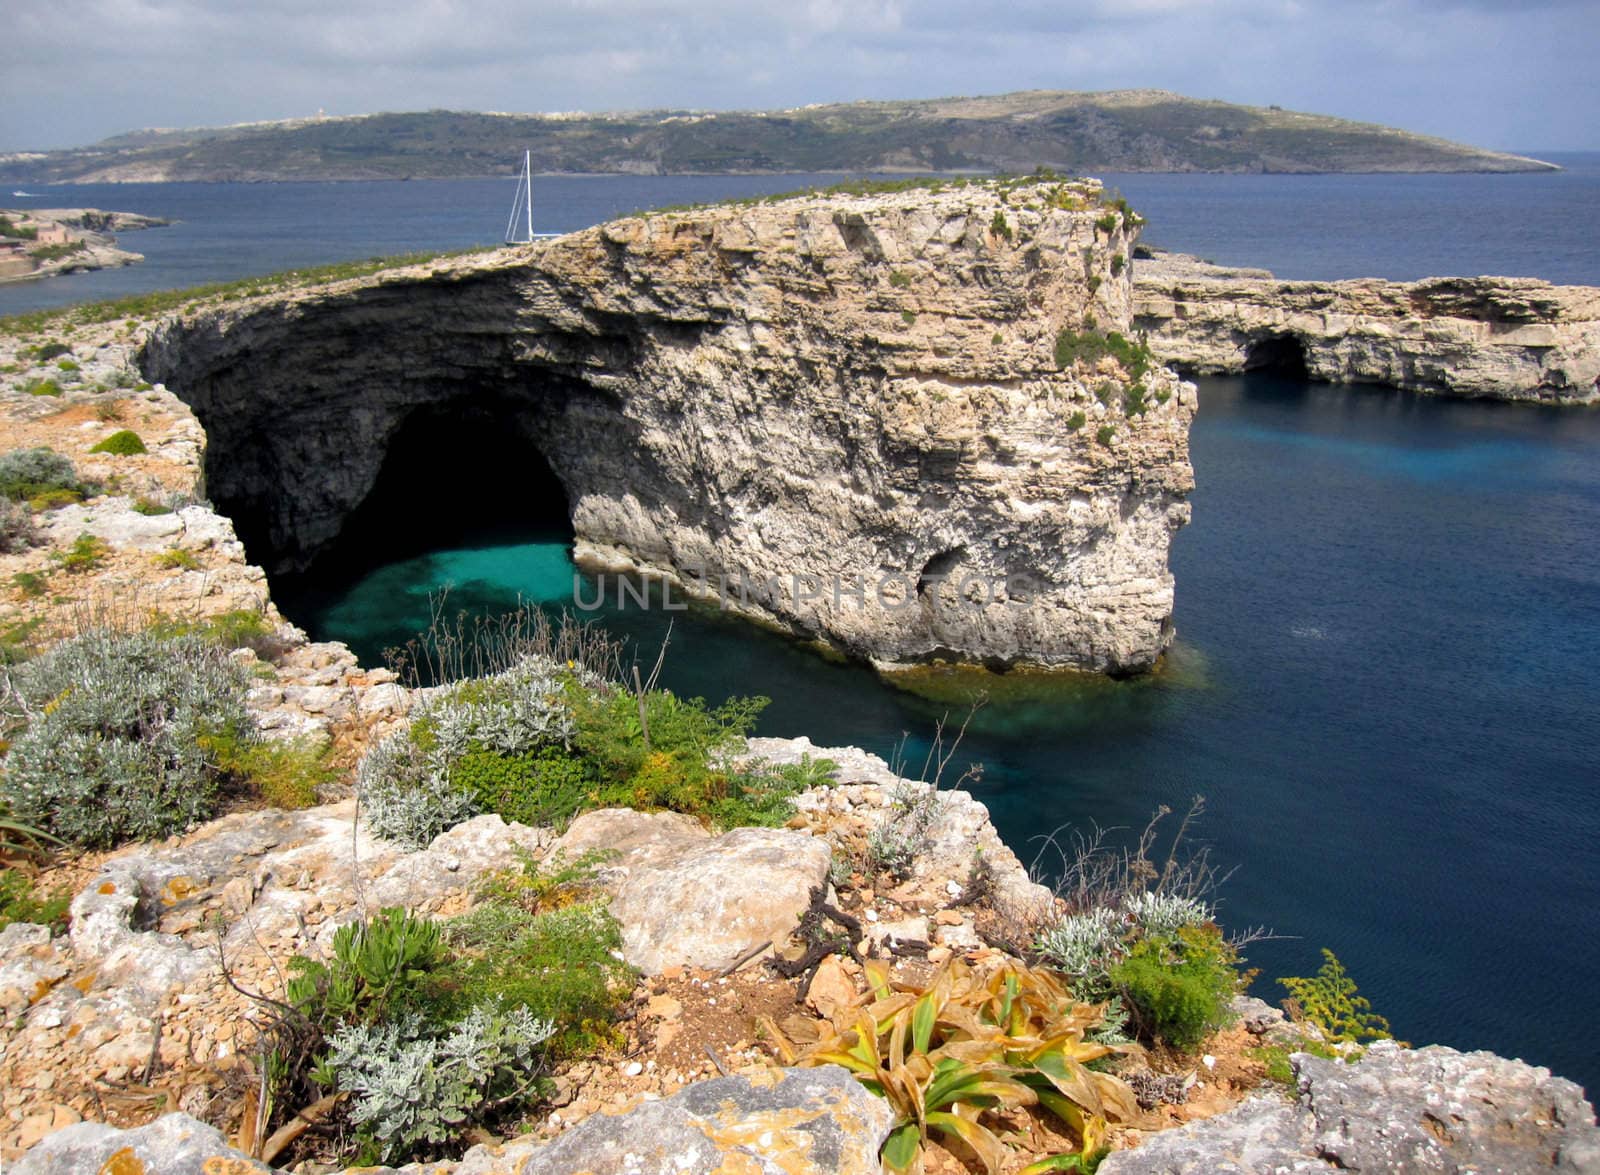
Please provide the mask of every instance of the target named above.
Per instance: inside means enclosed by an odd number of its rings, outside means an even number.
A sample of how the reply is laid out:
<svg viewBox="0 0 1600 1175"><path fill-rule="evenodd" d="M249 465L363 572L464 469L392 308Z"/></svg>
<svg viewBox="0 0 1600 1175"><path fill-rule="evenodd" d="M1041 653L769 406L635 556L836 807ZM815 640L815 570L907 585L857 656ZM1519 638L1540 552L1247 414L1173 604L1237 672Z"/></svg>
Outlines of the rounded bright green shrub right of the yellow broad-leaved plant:
<svg viewBox="0 0 1600 1175"><path fill-rule="evenodd" d="M1146 938L1110 970L1139 1034L1194 1052L1229 1023L1237 954L1216 927Z"/></svg>

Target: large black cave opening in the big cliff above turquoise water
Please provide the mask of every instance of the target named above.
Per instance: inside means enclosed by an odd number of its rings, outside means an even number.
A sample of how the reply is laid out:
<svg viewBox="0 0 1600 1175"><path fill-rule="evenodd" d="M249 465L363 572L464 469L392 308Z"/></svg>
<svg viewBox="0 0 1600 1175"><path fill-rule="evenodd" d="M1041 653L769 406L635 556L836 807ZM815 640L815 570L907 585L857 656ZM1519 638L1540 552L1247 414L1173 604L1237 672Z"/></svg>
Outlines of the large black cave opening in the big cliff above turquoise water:
<svg viewBox="0 0 1600 1175"><path fill-rule="evenodd" d="M339 538L296 578L326 586L450 547L570 544L566 488L520 426L525 411L478 399L413 410Z"/></svg>

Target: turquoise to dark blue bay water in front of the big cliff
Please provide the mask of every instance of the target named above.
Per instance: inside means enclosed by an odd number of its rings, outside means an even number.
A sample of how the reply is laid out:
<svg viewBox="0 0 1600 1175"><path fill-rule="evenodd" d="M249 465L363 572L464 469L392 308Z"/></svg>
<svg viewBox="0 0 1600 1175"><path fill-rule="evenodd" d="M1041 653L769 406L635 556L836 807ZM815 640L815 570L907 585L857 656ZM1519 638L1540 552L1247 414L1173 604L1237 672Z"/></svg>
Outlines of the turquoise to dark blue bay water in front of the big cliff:
<svg viewBox="0 0 1600 1175"><path fill-rule="evenodd" d="M1024 860L1056 826L1205 794L1230 925L1270 978L1331 946L1400 1036L1600 1079L1600 415L1203 379L1179 644L1134 682L992 680L952 773ZM451 608L570 605L566 535L379 567L291 615L365 660ZM582 589L594 599L595 588ZM762 733L920 765L931 701L715 613L602 613L666 684L762 693ZM938 685L938 682L934 682ZM947 778L949 781L949 778Z"/></svg>

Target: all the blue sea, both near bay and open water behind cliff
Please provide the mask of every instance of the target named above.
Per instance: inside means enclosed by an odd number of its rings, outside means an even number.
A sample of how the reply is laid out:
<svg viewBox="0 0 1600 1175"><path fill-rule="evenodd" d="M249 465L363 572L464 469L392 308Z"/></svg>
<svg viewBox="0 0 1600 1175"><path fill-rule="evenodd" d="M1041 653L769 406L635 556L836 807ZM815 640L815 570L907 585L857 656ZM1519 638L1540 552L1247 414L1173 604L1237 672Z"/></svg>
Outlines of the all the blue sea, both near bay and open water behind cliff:
<svg viewBox="0 0 1600 1175"><path fill-rule="evenodd" d="M1146 239L1283 277L1525 274L1600 285L1600 155L1530 176L1107 176ZM541 231L811 178L560 178ZM181 221L144 266L0 288L51 301L498 240L507 181L38 189ZM10 203L21 203L11 199ZM1206 797L1222 919L1256 993L1333 948L1413 1042L1600 1082L1600 413L1275 378L1202 379L1179 640L1133 682L998 679L950 773L1029 860L1053 828L1133 829ZM286 597L376 661L427 592L571 599L570 535L485 536ZM654 656L666 620L608 616ZM762 730L907 757L947 704L738 621L675 615L666 684L773 700ZM958 717L958 714L957 714ZM1045 861L1048 864L1048 860Z"/></svg>

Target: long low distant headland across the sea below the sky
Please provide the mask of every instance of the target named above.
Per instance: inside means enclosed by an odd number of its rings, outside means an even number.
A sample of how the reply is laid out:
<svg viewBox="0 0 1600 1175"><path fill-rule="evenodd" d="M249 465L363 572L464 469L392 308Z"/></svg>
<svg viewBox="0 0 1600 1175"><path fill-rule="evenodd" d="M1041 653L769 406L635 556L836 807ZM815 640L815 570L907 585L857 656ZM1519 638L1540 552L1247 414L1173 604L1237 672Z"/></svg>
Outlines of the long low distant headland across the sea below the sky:
<svg viewBox="0 0 1600 1175"><path fill-rule="evenodd" d="M142 130L0 155L3 182L254 182L547 173L1547 171L1554 163L1320 114L1165 90L786 110L427 110Z"/></svg>

